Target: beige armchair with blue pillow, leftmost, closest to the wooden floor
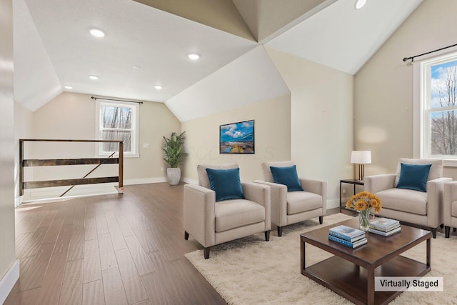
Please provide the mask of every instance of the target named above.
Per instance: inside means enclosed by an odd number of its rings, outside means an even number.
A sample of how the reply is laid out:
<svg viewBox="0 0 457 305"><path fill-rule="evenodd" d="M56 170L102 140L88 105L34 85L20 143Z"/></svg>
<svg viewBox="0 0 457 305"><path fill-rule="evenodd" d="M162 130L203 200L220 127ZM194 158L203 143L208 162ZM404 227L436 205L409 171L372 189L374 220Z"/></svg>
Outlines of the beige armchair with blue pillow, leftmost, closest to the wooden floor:
<svg viewBox="0 0 457 305"><path fill-rule="evenodd" d="M205 259L211 246L226 241L259 232L265 232L266 241L270 239L268 186L241 182L237 164L199 165L197 172L199 185L184 185L184 238L191 235L199 241Z"/></svg>

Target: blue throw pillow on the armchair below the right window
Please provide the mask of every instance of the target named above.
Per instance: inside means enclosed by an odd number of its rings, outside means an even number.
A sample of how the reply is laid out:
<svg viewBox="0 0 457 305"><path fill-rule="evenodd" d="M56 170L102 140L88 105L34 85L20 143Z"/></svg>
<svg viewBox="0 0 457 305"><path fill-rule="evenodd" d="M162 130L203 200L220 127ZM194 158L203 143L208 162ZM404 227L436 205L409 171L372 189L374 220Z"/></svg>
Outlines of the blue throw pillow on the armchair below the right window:
<svg viewBox="0 0 457 305"><path fill-rule="evenodd" d="M398 189L413 189L415 191L427 191L428 172L431 164L401 164Z"/></svg>

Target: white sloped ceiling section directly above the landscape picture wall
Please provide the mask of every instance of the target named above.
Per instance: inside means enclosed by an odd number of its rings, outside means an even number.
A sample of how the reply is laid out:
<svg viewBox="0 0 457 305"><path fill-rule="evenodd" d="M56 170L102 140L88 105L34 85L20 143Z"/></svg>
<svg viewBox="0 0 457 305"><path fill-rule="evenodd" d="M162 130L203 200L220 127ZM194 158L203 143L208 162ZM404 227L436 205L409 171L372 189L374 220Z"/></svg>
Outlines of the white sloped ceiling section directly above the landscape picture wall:
<svg viewBox="0 0 457 305"><path fill-rule="evenodd" d="M289 93L263 46L257 46L165 104L180 121L189 121Z"/></svg>

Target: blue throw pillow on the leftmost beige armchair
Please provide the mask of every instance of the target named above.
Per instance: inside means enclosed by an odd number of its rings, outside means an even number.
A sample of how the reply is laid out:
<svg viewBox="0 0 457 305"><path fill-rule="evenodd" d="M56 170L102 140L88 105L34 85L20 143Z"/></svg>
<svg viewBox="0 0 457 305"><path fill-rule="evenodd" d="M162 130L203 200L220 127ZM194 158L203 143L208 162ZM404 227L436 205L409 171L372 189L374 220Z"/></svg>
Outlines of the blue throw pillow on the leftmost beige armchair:
<svg viewBox="0 0 457 305"><path fill-rule="evenodd" d="M209 187L216 192L216 201L244 199L240 169L206 169Z"/></svg>

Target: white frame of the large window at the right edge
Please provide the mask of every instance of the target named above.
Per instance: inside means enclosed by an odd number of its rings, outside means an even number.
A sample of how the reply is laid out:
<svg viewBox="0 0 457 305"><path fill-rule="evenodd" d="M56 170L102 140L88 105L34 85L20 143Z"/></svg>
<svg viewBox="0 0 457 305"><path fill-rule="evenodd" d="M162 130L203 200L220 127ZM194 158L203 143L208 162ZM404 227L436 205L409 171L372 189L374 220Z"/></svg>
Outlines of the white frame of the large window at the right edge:
<svg viewBox="0 0 457 305"><path fill-rule="evenodd" d="M430 151L431 66L457 60L457 48L438 51L413 61L413 156L421 159L441 159L443 166L457 166L457 155L432 155ZM456 107L441 108L457 110Z"/></svg>

